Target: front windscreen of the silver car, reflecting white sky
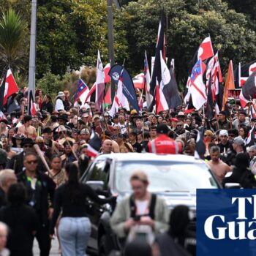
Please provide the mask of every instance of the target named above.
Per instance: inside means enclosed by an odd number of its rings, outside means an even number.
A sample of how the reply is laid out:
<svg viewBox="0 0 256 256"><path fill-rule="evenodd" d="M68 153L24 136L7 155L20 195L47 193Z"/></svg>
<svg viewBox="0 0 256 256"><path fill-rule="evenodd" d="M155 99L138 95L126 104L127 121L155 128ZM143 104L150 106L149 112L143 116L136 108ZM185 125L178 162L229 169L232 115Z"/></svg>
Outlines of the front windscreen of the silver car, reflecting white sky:
<svg viewBox="0 0 256 256"><path fill-rule="evenodd" d="M131 192L129 177L135 170L148 175L151 192L190 192L218 188L208 167L203 163L168 161L124 161L116 163L115 183L118 192Z"/></svg>

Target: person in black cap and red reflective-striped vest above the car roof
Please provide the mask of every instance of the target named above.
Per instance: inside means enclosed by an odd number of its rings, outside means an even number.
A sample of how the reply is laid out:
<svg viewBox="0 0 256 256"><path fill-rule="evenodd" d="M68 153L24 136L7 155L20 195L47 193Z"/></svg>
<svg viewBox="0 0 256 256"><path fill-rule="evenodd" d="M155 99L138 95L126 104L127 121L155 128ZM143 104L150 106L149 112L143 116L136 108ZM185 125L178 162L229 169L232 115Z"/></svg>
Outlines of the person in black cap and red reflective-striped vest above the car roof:
<svg viewBox="0 0 256 256"><path fill-rule="evenodd" d="M157 125L157 138L148 142L146 151L156 154L178 154L182 144L168 137L169 129L165 124Z"/></svg>

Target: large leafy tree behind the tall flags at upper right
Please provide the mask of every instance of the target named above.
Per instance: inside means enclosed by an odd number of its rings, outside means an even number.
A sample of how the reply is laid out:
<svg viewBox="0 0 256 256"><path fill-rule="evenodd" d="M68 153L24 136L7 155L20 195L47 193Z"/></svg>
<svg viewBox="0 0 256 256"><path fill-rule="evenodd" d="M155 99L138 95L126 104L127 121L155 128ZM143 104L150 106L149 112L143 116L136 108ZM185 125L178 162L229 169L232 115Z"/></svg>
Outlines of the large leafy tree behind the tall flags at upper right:
<svg viewBox="0 0 256 256"><path fill-rule="evenodd" d="M160 12L167 16L167 57L176 61L176 78L185 84L192 57L200 42L211 35L214 51L220 50L222 67L228 61L249 61L256 56L255 31L246 16L229 10L221 0L138 0L124 7L130 69L143 68L143 53L154 56ZM150 62L150 61L149 61Z"/></svg>

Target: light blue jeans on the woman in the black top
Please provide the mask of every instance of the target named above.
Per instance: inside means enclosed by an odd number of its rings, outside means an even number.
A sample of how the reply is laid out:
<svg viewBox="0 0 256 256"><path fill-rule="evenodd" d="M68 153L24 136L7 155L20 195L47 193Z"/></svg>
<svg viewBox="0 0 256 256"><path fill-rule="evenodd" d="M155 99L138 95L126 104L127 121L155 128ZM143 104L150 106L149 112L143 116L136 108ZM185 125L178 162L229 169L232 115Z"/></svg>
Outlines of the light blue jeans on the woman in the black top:
<svg viewBox="0 0 256 256"><path fill-rule="evenodd" d="M62 256L86 256L91 222L86 217L64 217L59 222Z"/></svg>

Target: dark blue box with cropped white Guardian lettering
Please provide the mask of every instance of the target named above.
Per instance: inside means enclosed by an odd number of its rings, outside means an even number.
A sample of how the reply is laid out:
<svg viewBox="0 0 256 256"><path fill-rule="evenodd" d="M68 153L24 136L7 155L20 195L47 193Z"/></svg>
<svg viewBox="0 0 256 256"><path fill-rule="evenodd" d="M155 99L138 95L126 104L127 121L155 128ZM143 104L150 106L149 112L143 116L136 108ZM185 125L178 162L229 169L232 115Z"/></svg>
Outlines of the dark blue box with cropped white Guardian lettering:
<svg viewBox="0 0 256 256"><path fill-rule="evenodd" d="M256 189L197 189L197 256L256 255Z"/></svg>

